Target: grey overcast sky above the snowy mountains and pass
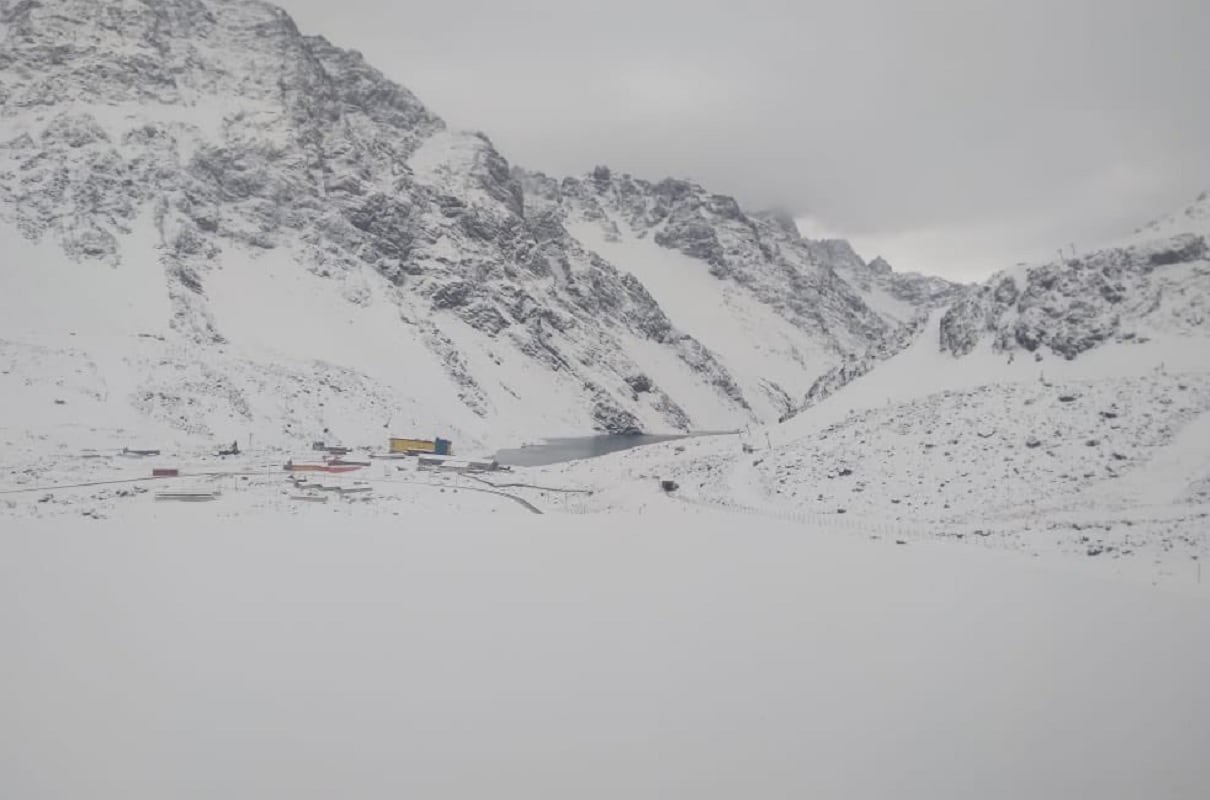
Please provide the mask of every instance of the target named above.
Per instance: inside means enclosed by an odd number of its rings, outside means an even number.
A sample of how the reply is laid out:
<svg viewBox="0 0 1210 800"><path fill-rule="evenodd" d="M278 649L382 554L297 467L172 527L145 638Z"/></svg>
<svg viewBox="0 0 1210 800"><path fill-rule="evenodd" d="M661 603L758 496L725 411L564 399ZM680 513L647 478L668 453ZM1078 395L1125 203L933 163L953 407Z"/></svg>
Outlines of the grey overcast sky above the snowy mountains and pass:
<svg viewBox="0 0 1210 800"><path fill-rule="evenodd" d="M456 127L981 277L1210 186L1208 0L278 0Z"/></svg>

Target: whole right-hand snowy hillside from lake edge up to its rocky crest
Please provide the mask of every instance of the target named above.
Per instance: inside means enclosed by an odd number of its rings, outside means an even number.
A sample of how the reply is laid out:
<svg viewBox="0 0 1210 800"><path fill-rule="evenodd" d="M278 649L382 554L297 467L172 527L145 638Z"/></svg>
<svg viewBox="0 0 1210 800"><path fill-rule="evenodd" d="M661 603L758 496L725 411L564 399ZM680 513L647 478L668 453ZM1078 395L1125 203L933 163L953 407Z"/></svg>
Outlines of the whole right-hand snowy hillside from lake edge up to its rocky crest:
<svg viewBox="0 0 1210 800"><path fill-rule="evenodd" d="M552 473L597 488L599 508L674 479L685 501L757 518L1197 585L1210 558L1210 261L1197 236L998 275L901 350L830 372L780 425ZM992 304L985 326L972 309Z"/></svg>

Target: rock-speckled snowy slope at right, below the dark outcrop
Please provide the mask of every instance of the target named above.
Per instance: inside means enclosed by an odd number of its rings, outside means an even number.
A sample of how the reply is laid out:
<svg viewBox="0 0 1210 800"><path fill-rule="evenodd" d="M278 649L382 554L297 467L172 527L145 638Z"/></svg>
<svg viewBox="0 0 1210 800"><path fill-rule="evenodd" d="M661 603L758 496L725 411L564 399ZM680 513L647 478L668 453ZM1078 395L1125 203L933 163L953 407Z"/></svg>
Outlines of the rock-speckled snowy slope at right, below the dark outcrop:
<svg viewBox="0 0 1210 800"><path fill-rule="evenodd" d="M1150 457L1206 411L1208 373L992 384L849 414L759 472L797 506L995 519L1146 473ZM1180 494L1176 479L1205 477L1168 476L1170 496Z"/></svg>

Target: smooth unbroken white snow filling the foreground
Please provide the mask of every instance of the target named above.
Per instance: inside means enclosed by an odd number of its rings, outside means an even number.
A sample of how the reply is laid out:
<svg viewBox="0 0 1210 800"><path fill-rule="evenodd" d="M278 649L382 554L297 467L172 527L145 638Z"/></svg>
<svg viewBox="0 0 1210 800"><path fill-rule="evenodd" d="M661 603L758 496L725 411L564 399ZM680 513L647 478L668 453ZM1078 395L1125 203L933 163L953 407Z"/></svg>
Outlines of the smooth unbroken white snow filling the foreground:
<svg viewBox="0 0 1210 800"><path fill-rule="evenodd" d="M7 796L1210 785L1203 600L662 497L609 517L134 508L0 533Z"/></svg>

